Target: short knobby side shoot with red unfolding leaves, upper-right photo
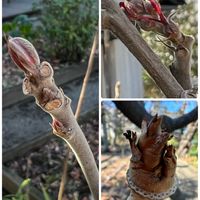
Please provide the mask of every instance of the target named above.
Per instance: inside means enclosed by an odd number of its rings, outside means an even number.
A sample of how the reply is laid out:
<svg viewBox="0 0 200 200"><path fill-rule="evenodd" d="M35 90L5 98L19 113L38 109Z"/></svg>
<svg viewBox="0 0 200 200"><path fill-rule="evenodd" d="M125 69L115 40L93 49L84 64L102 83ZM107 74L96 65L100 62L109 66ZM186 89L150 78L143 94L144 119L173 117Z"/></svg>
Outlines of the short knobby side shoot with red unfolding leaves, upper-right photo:
<svg viewBox="0 0 200 200"><path fill-rule="evenodd" d="M137 24L146 31L153 31L166 38L170 42L165 46L174 52L174 62L171 72L183 89L192 89L191 83L191 54L194 38L181 32L179 25L173 20L175 12L166 17L157 1L131 0L120 2L120 7L124 10L130 21Z"/></svg>

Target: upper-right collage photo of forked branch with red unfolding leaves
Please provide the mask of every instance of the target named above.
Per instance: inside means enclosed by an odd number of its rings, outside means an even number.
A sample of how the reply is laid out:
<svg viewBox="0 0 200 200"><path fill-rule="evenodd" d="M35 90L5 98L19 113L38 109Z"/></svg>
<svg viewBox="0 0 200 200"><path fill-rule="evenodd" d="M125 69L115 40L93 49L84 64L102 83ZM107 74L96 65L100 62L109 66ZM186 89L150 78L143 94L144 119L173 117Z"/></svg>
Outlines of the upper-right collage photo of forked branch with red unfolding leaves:
<svg viewBox="0 0 200 200"><path fill-rule="evenodd" d="M102 98L196 98L198 1L101 2Z"/></svg>

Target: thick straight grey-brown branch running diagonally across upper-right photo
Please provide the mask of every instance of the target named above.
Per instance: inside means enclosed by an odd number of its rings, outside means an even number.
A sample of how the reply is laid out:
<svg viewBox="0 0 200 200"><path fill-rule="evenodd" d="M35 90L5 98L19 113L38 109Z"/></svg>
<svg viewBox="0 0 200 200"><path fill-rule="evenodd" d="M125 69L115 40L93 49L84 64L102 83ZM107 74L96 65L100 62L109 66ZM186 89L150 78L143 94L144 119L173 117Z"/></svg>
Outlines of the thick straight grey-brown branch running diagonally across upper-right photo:
<svg viewBox="0 0 200 200"><path fill-rule="evenodd" d="M102 0L102 8L102 28L112 31L127 46L167 97L192 97L185 94L170 70L162 64L114 1Z"/></svg>

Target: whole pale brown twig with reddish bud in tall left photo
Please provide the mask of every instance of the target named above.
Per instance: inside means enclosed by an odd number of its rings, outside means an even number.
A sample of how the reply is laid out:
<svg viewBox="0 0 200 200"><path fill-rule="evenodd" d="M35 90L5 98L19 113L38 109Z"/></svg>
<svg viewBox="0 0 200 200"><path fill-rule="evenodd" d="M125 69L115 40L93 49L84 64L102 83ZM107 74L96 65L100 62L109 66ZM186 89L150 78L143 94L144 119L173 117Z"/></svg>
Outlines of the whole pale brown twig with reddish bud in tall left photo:
<svg viewBox="0 0 200 200"><path fill-rule="evenodd" d="M33 45L23 38L9 38L8 49L15 64L24 71L23 92L53 119L53 133L74 152L95 200L99 198L99 174L92 151L71 109L71 99L54 82L48 62L40 63Z"/></svg>

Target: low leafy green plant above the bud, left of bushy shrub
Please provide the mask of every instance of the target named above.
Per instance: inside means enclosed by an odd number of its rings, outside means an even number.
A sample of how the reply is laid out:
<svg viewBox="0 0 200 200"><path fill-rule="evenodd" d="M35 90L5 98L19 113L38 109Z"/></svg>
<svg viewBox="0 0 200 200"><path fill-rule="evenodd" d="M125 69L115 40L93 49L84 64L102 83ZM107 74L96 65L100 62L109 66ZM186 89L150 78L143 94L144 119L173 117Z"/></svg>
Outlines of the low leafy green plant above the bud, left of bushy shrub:
<svg viewBox="0 0 200 200"><path fill-rule="evenodd" d="M27 15L19 15L13 21L3 23L3 32L12 37L20 36L29 40L36 37L32 21Z"/></svg>

